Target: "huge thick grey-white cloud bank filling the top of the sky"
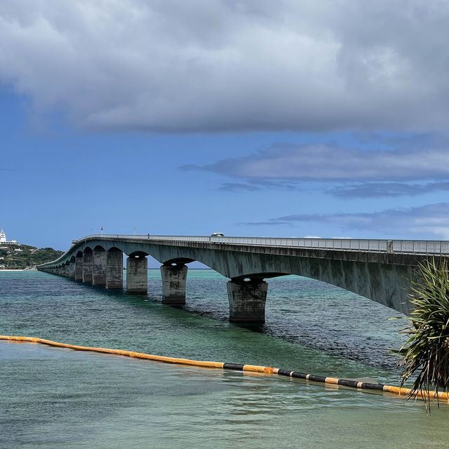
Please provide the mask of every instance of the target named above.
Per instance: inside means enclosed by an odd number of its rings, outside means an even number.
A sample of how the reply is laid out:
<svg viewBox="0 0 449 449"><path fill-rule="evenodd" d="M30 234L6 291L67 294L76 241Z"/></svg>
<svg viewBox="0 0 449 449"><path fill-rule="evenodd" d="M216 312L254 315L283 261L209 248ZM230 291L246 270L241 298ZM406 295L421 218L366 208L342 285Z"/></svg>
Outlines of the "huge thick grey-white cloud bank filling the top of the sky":
<svg viewBox="0 0 449 449"><path fill-rule="evenodd" d="M443 0L4 0L0 82L83 127L441 130Z"/></svg>

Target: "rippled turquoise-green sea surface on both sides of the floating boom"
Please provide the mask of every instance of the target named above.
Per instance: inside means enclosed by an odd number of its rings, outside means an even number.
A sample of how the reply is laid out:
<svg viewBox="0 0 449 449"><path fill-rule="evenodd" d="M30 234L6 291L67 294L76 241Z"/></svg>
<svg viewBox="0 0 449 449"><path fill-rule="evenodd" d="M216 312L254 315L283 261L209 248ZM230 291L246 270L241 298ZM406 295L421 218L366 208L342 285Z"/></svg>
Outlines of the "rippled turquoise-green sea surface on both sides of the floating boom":
<svg viewBox="0 0 449 449"><path fill-rule="evenodd" d="M267 322L227 321L227 279L189 270L187 306L41 272L0 272L0 334L398 383L398 312L300 276ZM449 406L285 377L0 341L0 448L445 448Z"/></svg>

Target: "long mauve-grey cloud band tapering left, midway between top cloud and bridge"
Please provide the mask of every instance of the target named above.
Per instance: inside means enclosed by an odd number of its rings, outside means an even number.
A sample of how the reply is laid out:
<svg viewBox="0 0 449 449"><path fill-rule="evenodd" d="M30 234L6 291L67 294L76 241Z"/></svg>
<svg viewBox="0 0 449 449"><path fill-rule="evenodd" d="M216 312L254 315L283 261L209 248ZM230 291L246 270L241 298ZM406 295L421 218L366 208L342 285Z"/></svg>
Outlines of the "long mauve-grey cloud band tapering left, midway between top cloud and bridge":
<svg viewBox="0 0 449 449"><path fill-rule="evenodd" d="M368 151L329 145L274 145L269 149L203 167L253 182L412 181L449 179L446 149Z"/></svg>

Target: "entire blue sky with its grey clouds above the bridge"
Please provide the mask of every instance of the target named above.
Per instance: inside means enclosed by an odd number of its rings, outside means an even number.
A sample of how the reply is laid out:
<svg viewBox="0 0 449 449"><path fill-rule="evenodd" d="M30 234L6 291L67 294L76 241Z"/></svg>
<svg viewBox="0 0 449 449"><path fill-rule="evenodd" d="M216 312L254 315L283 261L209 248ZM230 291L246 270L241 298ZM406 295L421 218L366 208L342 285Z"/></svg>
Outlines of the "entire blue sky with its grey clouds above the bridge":
<svg viewBox="0 0 449 449"><path fill-rule="evenodd" d="M449 239L449 3L1 0L0 227Z"/></svg>

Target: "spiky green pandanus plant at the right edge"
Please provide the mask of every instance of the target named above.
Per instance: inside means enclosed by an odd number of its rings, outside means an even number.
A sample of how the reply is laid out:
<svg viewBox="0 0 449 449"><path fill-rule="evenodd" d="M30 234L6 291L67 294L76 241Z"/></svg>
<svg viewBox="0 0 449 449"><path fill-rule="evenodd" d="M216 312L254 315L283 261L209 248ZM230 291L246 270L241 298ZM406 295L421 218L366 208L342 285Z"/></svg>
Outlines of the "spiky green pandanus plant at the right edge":
<svg viewBox="0 0 449 449"><path fill-rule="evenodd" d="M431 391L449 389L449 264L427 260L420 264L420 281L413 281L408 339L397 352L401 356L401 387L413 380L408 398L422 394L426 408ZM438 396L437 396L438 397Z"/></svg>

